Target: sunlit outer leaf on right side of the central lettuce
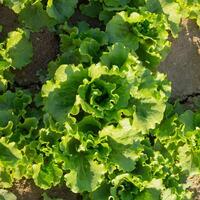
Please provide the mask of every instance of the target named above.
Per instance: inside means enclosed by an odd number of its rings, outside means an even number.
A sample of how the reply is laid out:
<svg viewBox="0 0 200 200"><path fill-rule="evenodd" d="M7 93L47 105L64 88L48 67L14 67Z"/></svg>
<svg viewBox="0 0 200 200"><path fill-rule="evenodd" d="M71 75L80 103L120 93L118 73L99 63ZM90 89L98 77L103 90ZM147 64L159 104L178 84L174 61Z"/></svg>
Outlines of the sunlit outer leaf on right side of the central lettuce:
<svg viewBox="0 0 200 200"><path fill-rule="evenodd" d="M145 132L155 128L164 116L167 97L170 95L170 85L163 74L152 76L149 70L140 69L141 83L132 88L135 98L135 112L133 114L133 129ZM156 95L155 95L156 94Z"/></svg>

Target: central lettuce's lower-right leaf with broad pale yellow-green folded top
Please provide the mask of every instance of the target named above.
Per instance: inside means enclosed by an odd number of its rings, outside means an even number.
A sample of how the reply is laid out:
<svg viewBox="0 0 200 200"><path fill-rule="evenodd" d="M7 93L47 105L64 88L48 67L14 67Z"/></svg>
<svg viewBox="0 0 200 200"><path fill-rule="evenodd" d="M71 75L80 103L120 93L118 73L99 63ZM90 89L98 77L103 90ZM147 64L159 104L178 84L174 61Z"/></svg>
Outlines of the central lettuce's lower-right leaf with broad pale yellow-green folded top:
<svg viewBox="0 0 200 200"><path fill-rule="evenodd" d="M137 160L142 155L143 147L140 141L141 134L133 131L129 119L120 121L118 127L104 127L99 133L100 137L107 137L111 148L108 162L116 165L120 170L132 171Z"/></svg>

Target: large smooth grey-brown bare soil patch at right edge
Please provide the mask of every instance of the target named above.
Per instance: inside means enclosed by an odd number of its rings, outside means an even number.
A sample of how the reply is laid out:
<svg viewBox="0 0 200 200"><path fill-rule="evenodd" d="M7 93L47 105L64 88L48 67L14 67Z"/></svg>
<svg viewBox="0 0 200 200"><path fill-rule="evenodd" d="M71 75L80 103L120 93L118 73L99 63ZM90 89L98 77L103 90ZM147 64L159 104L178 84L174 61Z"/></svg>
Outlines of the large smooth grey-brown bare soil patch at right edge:
<svg viewBox="0 0 200 200"><path fill-rule="evenodd" d="M192 20L182 21L182 31L172 40L172 49L160 71L172 82L172 97L200 92L200 29Z"/></svg>

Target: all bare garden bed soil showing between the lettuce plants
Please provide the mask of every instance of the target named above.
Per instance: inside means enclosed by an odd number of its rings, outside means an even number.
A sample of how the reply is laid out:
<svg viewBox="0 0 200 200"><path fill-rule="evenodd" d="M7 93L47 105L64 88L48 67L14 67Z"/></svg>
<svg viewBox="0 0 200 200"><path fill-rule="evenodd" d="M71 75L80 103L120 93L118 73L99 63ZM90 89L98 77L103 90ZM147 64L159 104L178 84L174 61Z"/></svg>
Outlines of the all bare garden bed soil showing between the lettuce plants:
<svg viewBox="0 0 200 200"><path fill-rule="evenodd" d="M71 24L77 21L87 20L92 27L102 28L98 20L82 16L76 11L70 19ZM3 25L3 32L0 40L3 40L7 33L19 27L17 16L13 11L0 5L0 24ZM39 91L43 81L41 76L46 73L48 63L55 60L59 52L59 37L47 29L31 33L33 45L32 62L22 70L13 70L14 82L17 87ZM182 21L182 30L177 39L172 40L172 49L166 60L160 65L160 71L168 75L172 82L172 101L180 100L189 109L194 108L194 101L200 96L200 31L192 20ZM195 109L195 108L194 108ZM195 177L190 178L191 190L196 191L197 199L200 199L200 183ZM57 186L44 191L35 186L31 180L15 182L9 189L19 200L40 200L46 192L52 198L63 200L80 200L81 197L70 192L66 186Z"/></svg>

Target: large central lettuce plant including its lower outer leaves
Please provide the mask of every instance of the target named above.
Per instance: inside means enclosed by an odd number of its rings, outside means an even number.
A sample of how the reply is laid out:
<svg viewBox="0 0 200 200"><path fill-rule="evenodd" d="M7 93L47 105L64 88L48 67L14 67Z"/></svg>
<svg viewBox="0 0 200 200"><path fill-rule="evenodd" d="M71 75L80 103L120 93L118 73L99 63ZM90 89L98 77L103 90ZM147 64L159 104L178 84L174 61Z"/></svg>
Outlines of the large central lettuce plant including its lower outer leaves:
<svg viewBox="0 0 200 200"><path fill-rule="evenodd" d="M113 63L119 47L124 63ZM144 134L162 120L169 92L165 76L152 74L121 44L88 68L61 65L42 97L48 124L63 135L53 148L67 186L92 192L115 169L135 169Z"/></svg>

